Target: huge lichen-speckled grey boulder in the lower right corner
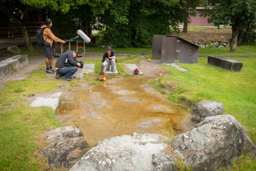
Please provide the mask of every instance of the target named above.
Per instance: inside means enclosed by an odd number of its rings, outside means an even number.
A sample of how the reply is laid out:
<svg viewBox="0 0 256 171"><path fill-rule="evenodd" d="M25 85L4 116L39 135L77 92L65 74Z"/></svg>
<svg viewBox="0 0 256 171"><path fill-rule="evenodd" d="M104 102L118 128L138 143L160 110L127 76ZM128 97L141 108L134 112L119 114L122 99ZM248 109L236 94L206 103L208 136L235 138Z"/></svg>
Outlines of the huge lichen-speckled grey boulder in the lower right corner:
<svg viewBox="0 0 256 171"><path fill-rule="evenodd" d="M212 121L211 121L212 120ZM192 170L213 171L228 167L241 154L256 155L256 147L231 115L209 120L174 138L174 151Z"/></svg>

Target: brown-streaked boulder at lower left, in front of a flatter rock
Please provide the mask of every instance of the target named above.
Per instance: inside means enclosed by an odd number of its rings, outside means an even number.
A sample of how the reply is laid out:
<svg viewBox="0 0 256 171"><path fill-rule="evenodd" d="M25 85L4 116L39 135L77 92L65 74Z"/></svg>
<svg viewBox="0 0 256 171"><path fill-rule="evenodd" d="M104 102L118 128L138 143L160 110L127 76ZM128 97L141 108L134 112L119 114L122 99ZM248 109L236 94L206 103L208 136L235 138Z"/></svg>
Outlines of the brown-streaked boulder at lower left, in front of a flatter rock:
<svg viewBox="0 0 256 171"><path fill-rule="evenodd" d="M65 138L43 147L42 153L51 167L70 168L90 149L84 137Z"/></svg>

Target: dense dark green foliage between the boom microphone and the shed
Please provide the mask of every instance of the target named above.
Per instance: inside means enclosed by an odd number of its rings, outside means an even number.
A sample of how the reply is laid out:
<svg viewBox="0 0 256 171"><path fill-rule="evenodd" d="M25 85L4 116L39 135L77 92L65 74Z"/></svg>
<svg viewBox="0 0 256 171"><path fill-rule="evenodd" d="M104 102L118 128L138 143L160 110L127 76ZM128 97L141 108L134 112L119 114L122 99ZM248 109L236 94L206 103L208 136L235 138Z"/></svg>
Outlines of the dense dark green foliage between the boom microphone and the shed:
<svg viewBox="0 0 256 171"><path fill-rule="evenodd" d="M179 0L113 0L100 15L103 43L116 47L151 47L152 36L178 30Z"/></svg>

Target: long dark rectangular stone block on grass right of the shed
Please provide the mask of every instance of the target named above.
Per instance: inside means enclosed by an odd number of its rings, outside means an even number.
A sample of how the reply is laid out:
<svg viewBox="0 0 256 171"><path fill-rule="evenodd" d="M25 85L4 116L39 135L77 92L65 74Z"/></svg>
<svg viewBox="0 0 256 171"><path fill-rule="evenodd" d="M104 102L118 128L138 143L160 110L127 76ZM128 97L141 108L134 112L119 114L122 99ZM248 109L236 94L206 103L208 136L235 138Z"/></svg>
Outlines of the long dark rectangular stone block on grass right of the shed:
<svg viewBox="0 0 256 171"><path fill-rule="evenodd" d="M208 56L208 64L221 67L229 71L241 71L243 63L233 59L222 58L219 56Z"/></svg>

